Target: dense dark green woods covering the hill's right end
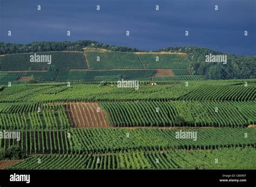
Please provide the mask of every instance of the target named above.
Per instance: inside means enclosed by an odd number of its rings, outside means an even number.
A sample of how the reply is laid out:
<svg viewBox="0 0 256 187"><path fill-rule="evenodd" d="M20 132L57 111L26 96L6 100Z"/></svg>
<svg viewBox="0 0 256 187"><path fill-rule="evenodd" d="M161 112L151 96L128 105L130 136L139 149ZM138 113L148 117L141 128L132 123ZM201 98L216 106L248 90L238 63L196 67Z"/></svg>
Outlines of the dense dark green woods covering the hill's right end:
<svg viewBox="0 0 256 187"><path fill-rule="evenodd" d="M184 52L190 60L190 72L194 75L205 75L207 79L255 79L256 56L239 56L217 52L203 47L167 47L158 51ZM226 54L227 64L206 63L209 54Z"/></svg>

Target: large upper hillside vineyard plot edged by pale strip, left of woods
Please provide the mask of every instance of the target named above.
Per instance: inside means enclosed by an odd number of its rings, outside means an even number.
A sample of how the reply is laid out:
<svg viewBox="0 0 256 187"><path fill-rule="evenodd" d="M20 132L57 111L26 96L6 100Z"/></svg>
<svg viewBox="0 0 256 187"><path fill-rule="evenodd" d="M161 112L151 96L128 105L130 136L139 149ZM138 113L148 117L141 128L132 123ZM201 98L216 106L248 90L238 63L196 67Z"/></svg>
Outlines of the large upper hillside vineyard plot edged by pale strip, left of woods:
<svg viewBox="0 0 256 187"><path fill-rule="evenodd" d="M86 50L85 56L89 68L96 70L188 68L187 56L178 53L132 53Z"/></svg>

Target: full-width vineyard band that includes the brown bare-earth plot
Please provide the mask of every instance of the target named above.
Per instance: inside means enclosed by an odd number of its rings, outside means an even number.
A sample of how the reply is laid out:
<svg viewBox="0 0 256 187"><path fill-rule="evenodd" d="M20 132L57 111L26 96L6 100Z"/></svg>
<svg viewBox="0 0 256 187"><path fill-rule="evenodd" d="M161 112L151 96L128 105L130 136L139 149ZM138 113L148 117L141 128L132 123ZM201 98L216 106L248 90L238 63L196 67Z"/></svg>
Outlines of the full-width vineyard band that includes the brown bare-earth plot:
<svg viewBox="0 0 256 187"><path fill-rule="evenodd" d="M243 127L256 122L255 102L140 101L1 103L3 129L72 127ZM122 114L122 115L120 115ZM179 121L177 119L183 119Z"/></svg>

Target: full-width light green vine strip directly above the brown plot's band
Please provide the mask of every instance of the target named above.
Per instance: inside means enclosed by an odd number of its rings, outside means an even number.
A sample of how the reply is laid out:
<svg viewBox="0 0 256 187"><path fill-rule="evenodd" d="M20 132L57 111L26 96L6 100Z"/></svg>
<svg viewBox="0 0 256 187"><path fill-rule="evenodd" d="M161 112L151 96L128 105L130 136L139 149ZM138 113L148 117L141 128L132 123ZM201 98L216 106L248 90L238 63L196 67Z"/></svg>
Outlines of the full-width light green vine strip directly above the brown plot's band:
<svg viewBox="0 0 256 187"><path fill-rule="evenodd" d="M245 87L243 81L174 81L171 85L139 85L139 89L118 88L117 84L32 84L5 86L0 102L57 101L254 101L255 86ZM168 82L167 82L168 83ZM252 83L253 84L253 83Z"/></svg>

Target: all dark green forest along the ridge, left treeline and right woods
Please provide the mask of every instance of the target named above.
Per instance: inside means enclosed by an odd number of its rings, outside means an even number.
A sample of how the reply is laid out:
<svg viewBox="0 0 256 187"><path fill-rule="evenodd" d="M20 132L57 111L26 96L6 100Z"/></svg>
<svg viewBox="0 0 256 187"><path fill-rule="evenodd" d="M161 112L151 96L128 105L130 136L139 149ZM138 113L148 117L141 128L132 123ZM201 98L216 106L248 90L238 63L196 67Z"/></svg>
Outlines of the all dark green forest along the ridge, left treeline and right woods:
<svg viewBox="0 0 256 187"><path fill-rule="evenodd" d="M138 52L140 50L125 46L107 45L91 40L78 41L35 41L30 44L10 44L0 42L0 54L44 52L44 51L83 51L84 47L107 49L111 51ZM238 56L213 51L203 47L166 47L157 51L184 52L190 60L193 75L205 75L207 79L253 79L256 78L256 56ZM227 64L206 63L209 54L226 54Z"/></svg>

